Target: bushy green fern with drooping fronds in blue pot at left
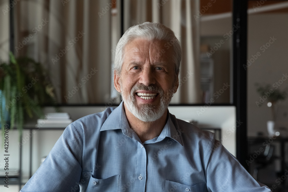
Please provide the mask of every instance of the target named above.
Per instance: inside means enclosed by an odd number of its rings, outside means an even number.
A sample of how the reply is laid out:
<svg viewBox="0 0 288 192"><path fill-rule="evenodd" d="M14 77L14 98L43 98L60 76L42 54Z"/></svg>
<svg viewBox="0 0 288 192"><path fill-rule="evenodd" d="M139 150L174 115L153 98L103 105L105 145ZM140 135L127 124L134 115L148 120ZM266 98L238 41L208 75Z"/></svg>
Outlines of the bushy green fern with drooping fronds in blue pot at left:
<svg viewBox="0 0 288 192"><path fill-rule="evenodd" d="M24 114L30 118L33 114L43 118L41 106L56 104L54 88L42 65L28 57L15 59L11 52L10 62L0 64L0 90L0 120L3 136L3 127L9 121L5 114L8 113L10 116L10 128L13 129L16 124L17 129L22 133Z"/></svg>

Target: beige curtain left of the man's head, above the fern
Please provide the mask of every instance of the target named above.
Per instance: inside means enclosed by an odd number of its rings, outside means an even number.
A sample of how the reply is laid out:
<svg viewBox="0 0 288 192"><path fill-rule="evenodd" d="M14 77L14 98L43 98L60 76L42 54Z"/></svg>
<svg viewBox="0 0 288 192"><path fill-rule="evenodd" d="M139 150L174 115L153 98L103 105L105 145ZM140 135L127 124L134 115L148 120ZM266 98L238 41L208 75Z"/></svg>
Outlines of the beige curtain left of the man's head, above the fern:
<svg viewBox="0 0 288 192"><path fill-rule="evenodd" d="M26 0L17 3L16 42L22 42L29 34L33 36L16 55L33 57L46 66L59 102L109 101L110 5L111 0ZM33 28L43 20L46 24L34 34Z"/></svg>

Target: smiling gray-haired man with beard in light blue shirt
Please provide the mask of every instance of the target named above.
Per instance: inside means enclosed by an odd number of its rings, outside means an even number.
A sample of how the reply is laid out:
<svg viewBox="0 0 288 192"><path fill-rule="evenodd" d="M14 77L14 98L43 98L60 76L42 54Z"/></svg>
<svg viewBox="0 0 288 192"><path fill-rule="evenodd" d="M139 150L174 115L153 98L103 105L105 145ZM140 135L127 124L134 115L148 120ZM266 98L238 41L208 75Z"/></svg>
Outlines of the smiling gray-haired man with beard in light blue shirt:
<svg viewBox="0 0 288 192"><path fill-rule="evenodd" d="M115 54L123 101L71 123L21 191L270 191L215 134L169 113L180 60L171 29L130 27Z"/></svg>

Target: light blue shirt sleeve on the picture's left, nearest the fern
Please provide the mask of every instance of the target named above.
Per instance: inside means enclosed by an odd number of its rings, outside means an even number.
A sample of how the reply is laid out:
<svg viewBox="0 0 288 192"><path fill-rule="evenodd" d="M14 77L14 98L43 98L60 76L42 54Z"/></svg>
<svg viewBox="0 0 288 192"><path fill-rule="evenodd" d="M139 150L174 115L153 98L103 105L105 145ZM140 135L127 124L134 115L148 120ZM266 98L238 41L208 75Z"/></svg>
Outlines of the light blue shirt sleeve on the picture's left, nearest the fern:
<svg viewBox="0 0 288 192"><path fill-rule="evenodd" d="M74 122L75 123L75 122ZM79 191L82 172L83 133L71 123L20 192Z"/></svg>

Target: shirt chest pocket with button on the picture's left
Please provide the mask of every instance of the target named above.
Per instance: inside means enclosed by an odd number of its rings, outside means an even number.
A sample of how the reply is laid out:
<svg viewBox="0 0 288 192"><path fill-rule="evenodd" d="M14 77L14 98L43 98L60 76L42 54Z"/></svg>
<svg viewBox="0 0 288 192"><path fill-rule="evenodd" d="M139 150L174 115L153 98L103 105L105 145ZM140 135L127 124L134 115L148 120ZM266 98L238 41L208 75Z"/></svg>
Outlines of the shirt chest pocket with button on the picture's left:
<svg viewBox="0 0 288 192"><path fill-rule="evenodd" d="M120 175L114 175L106 179L96 179L91 175L86 191L117 192L119 185L119 176Z"/></svg>

